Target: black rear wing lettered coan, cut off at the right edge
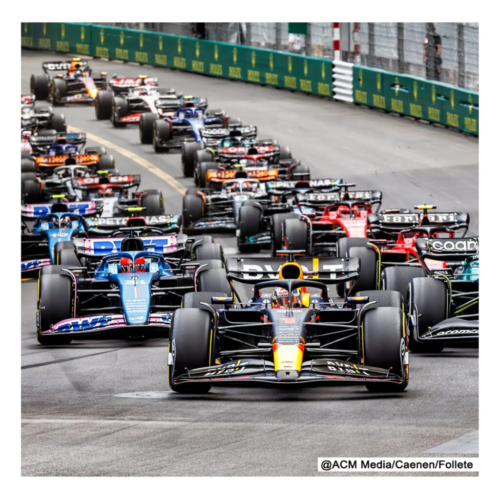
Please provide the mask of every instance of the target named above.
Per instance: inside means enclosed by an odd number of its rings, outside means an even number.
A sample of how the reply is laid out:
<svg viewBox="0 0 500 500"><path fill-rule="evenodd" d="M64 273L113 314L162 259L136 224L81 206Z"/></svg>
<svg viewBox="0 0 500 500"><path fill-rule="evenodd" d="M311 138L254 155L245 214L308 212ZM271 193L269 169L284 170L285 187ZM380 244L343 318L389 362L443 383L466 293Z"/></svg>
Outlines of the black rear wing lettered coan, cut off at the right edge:
<svg viewBox="0 0 500 500"><path fill-rule="evenodd" d="M465 260L479 251L479 238L417 238L415 249L419 260Z"/></svg>

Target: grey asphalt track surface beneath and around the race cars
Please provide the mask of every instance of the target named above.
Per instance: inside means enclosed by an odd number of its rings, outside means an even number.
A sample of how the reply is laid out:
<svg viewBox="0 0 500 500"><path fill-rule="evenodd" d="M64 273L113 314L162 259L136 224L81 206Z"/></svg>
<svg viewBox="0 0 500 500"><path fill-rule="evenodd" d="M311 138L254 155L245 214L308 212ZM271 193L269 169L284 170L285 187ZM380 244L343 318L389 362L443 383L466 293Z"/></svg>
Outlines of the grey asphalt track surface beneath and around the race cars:
<svg viewBox="0 0 500 500"><path fill-rule="evenodd" d="M59 58L22 51L22 92L42 60ZM477 234L475 138L265 86L104 60L91 66L126 76L146 72L157 75L160 86L206 96L210 107L257 125L259 136L289 145L314 177L339 176L359 188L381 189L385 208L433 203L468 211L469 233ZM68 124L193 185L181 175L180 155L155 154L140 144L135 126L115 129L86 105L63 112ZM120 172L140 173L141 187L161 188L166 210L180 212L178 190L125 151L111 152ZM216 241L227 254L236 251L232 236ZM478 428L476 348L411 354L410 384L402 394L372 394L355 385L231 386L182 396L168 389L165 339L41 346L35 301L36 283L22 283L23 475L315 475L318 456L422 456ZM455 456L470 452L459 445L438 449Z"/></svg>

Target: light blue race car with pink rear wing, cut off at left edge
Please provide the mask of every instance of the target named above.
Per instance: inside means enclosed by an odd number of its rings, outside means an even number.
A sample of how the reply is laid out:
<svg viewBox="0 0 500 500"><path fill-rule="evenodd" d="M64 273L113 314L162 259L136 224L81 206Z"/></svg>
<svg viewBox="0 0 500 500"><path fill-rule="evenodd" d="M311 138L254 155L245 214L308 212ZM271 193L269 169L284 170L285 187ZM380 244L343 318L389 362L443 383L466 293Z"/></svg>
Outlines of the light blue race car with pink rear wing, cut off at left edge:
<svg viewBox="0 0 500 500"><path fill-rule="evenodd" d="M36 203L21 207L21 276L55 263L57 245L86 235L88 226L83 215L98 215L99 202ZM28 223L34 221L32 227Z"/></svg>

